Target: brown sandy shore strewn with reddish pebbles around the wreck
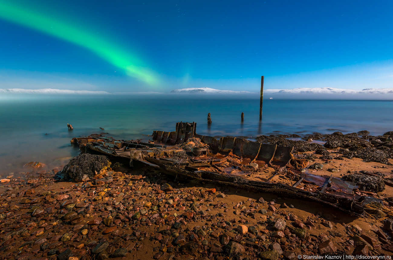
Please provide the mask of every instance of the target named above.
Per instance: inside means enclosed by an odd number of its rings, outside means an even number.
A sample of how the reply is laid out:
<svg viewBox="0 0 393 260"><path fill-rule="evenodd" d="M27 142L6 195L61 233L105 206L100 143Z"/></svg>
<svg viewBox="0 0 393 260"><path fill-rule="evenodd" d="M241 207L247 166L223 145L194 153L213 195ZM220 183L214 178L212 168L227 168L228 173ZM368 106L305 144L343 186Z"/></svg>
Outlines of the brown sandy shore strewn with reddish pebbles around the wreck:
<svg viewBox="0 0 393 260"><path fill-rule="evenodd" d="M331 167L341 169L333 173L337 177L347 171L391 175L393 170L359 158L325 165L312 173L330 175L326 169ZM261 174L272 173L266 171ZM114 172L111 182L95 185L55 181L53 171L35 176L0 189L1 259L293 260L359 250L393 252L392 233L382 222L313 202L196 180L173 182L173 176L145 167ZM386 186L378 196L393 197L392 189ZM240 225L248 232L242 234ZM298 233L300 227L304 234Z"/></svg>

